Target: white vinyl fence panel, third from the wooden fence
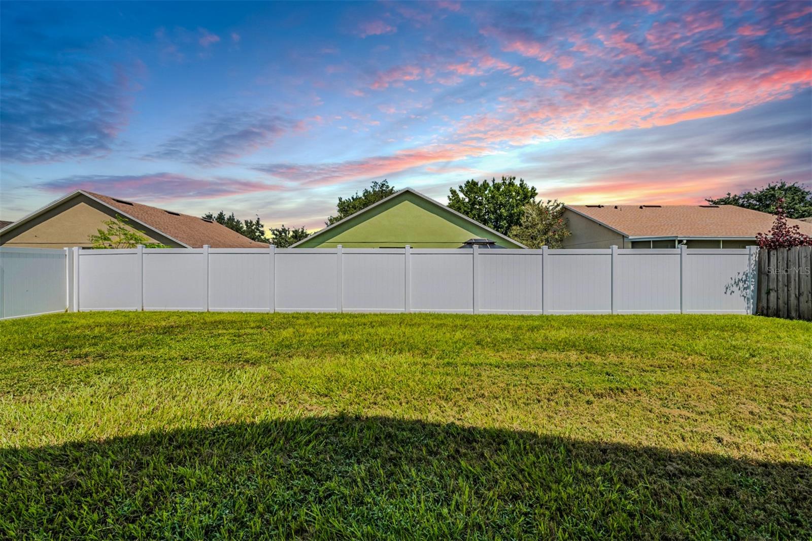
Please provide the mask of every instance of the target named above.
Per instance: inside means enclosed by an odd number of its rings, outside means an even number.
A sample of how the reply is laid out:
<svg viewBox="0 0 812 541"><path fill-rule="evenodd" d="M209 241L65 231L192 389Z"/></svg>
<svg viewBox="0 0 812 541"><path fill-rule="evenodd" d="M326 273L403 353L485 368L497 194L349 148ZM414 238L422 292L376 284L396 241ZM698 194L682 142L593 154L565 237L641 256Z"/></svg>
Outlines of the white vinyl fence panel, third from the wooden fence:
<svg viewBox="0 0 812 541"><path fill-rule="evenodd" d="M545 313L611 314L610 250L548 250L545 257Z"/></svg>

